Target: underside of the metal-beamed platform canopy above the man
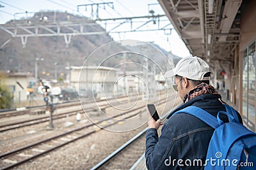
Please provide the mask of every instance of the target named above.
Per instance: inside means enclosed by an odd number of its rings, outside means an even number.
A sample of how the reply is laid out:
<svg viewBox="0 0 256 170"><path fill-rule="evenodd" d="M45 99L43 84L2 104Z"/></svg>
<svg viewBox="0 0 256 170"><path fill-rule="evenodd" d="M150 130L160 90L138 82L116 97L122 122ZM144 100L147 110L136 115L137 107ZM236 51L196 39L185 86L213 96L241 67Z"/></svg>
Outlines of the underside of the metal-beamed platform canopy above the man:
<svg viewBox="0 0 256 170"><path fill-rule="evenodd" d="M192 55L230 62L239 43L242 0L158 0Z"/></svg>

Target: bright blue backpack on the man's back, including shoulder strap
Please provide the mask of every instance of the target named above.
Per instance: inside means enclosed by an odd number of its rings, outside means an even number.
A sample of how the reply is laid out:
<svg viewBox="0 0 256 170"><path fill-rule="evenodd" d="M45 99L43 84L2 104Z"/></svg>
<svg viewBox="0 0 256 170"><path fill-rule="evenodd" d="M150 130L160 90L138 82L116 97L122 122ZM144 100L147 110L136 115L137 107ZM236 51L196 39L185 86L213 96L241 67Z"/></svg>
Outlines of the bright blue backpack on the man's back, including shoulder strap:
<svg viewBox="0 0 256 170"><path fill-rule="evenodd" d="M220 111L217 118L205 110L188 106L177 113L193 115L215 129L207 150L205 169L256 169L256 133L239 124L234 108L223 104L226 111ZM224 123L220 114L229 122Z"/></svg>

